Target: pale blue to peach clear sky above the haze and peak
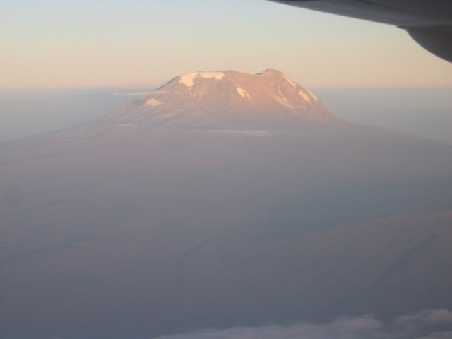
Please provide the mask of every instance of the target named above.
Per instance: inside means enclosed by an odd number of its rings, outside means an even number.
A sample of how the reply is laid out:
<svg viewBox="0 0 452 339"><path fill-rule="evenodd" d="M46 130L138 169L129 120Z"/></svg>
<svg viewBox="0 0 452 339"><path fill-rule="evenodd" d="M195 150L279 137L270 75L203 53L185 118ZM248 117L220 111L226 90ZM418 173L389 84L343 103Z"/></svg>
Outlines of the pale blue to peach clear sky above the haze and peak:
<svg viewBox="0 0 452 339"><path fill-rule="evenodd" d="M280 69L312 87L450 87L452 65L391 25L266 0L0 0L0 88L155 88Z"/></svg>

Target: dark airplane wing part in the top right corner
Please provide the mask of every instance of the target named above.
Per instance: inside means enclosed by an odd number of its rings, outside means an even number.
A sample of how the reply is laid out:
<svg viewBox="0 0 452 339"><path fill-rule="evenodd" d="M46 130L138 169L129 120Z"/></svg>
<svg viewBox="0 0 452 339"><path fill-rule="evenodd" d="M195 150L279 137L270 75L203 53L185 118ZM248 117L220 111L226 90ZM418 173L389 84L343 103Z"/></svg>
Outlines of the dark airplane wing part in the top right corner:
<svg viewBox="0 0 452 339"><path fill-rule="evenodd" d="M270 0L403 28L424 49L452 62L452 0Z"/></svg>

